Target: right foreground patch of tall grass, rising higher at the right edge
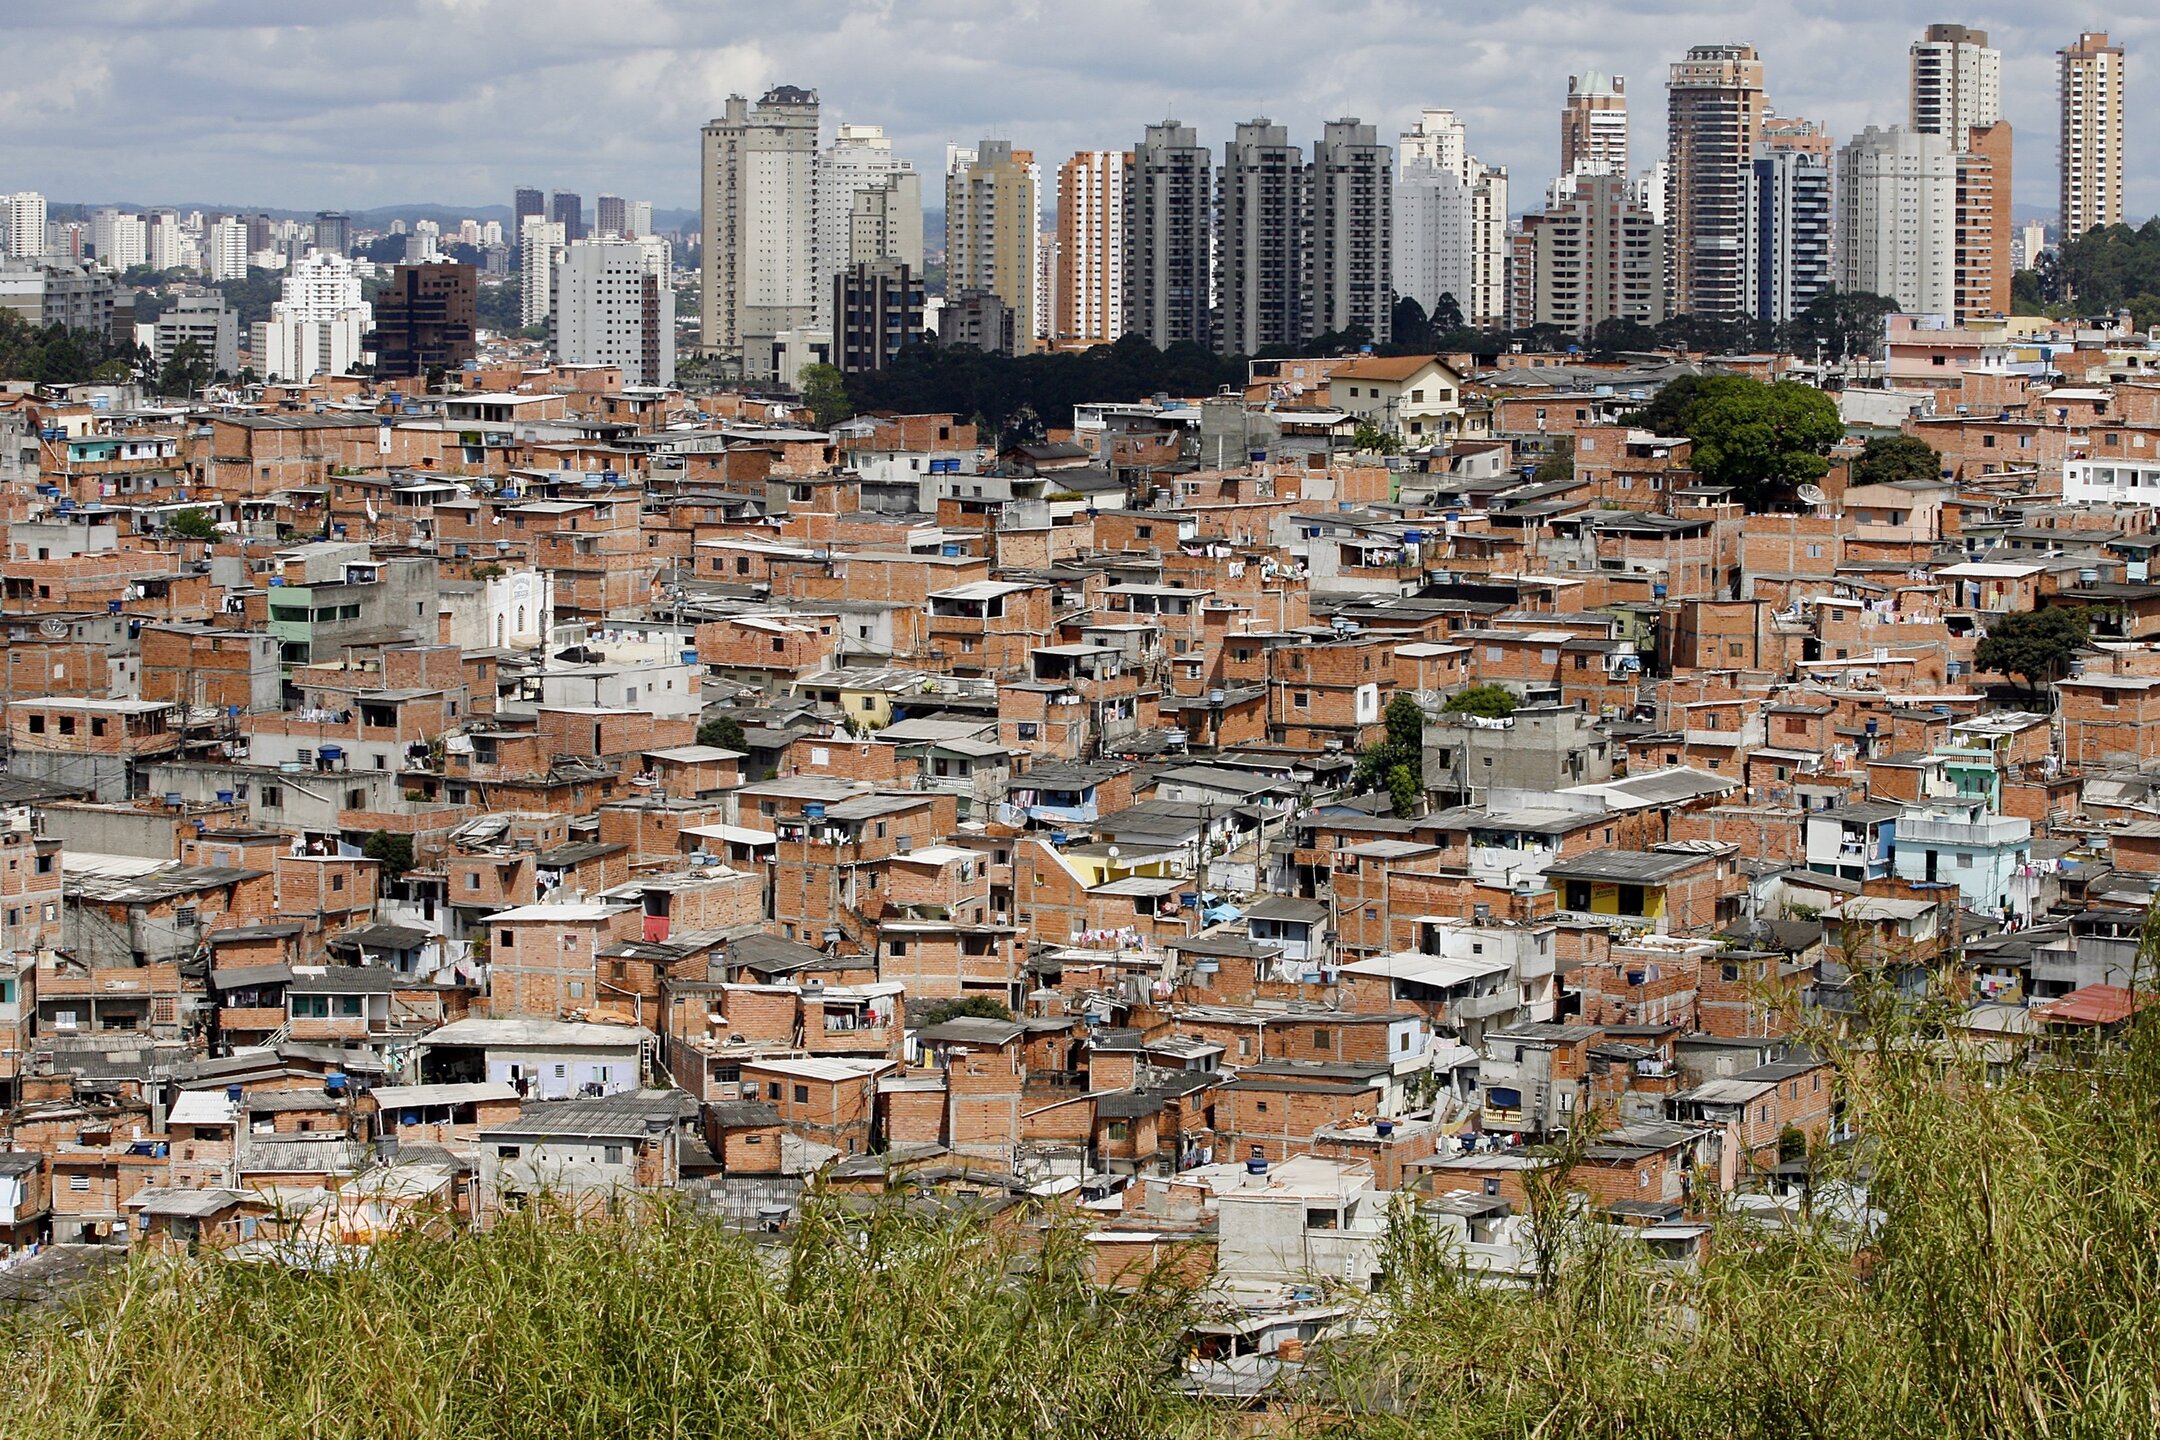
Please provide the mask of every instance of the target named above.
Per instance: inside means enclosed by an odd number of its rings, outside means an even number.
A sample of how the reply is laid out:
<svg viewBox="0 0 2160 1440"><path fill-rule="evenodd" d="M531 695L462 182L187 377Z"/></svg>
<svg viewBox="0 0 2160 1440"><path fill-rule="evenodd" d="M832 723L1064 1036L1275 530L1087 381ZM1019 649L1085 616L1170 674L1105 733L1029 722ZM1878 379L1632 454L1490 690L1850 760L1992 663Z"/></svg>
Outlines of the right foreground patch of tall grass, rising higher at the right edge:
<svg viewBox="0 0 2160 1440"><path fill-rule="evenodd" d="M2121 1049L1989 1077L1953 1010L1871 1006L1819 1034L1866 1144L1855 1244L1827 1209L1722 1224L1661 1272L1577 1239L1542 1293L1445 1265L1406 1276L1378 1334L1337 1345L1305 1421L1346 1436L2117 1440L2160 1436L2160 1025Z"/></svg>

